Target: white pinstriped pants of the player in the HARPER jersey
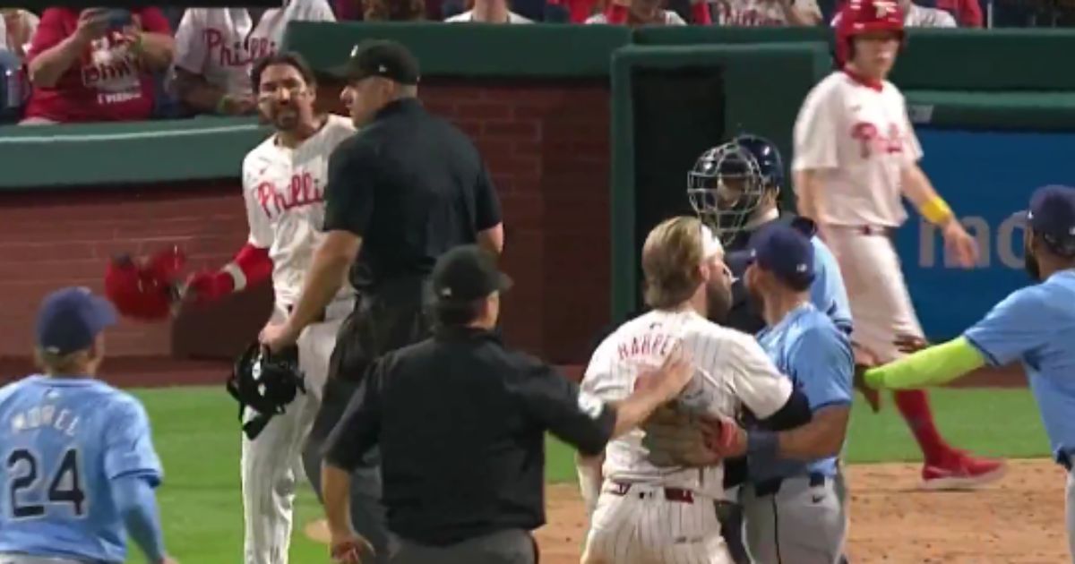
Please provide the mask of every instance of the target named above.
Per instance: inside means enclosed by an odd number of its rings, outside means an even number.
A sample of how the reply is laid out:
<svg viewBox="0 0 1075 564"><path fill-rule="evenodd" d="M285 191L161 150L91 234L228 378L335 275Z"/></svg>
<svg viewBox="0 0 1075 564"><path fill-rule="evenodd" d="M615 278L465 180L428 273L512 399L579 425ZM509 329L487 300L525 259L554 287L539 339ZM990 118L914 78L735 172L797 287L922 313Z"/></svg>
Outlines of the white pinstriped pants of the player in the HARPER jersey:
<svg viewBox="0 0 1075 564"><path fill-rule="evenodd" d="M712 498L669 500L664 488L605 482L583 564L732 564Z"/></svg>

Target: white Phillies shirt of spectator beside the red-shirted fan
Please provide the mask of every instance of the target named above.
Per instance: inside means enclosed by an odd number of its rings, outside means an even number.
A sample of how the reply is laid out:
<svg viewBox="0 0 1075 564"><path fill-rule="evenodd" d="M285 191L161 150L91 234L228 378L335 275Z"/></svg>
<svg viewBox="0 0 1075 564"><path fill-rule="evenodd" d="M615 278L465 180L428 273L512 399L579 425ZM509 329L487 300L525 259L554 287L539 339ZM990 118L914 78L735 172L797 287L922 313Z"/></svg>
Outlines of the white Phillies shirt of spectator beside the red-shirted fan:
<svg viewBox="0 0 1075 564"><path fill-rule="evenodd" d="M250 69L276 53L289 21L335 21L328 0L291 0L255 26L245 8L188 8L175 30L175 67L231 96L250 95Z"/></svg>

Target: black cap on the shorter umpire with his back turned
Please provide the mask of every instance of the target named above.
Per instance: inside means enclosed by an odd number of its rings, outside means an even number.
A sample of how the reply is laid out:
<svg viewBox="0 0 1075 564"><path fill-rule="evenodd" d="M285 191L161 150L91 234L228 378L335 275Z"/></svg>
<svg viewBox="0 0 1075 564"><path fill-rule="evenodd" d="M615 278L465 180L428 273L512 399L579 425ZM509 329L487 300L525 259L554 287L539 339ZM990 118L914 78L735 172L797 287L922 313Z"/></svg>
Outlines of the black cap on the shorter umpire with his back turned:
<svg viewBox="0 0 1075 564"><path fill-rule="evenodd" d="M462 245L436 260L433 294L440 303L467 303L512 287L512 279L497 267L497 258L477 245Z"/></svg>

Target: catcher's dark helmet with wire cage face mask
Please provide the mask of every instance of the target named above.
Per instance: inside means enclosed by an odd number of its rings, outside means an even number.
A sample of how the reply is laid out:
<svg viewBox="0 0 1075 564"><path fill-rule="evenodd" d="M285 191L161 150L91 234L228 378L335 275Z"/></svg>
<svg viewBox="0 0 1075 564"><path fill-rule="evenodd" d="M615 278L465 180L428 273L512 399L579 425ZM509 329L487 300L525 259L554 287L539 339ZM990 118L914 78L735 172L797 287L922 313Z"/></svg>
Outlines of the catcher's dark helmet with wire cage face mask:
<svg viewBox="0 0 1075 564"><path fill-rule="evenodd" d="M687 197L702 221L726 246L758 209L762 198L784 186L784 161L771 141L743 134L706 150L687 173Z"/></svg>

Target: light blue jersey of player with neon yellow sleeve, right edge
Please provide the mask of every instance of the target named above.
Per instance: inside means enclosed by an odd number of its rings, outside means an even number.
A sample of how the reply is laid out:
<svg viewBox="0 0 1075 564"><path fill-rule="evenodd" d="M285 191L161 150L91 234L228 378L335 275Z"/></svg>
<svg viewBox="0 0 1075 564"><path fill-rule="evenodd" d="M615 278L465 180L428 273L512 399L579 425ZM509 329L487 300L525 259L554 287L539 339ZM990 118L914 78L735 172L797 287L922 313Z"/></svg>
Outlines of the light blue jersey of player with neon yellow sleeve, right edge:
<svg viewBox="0 0 1075 564"><path fill-rule="evenodd" d="M1054 453L1075 453L1075 271L1016 290L963 336L993 366L1022 362Z"/></svg>

